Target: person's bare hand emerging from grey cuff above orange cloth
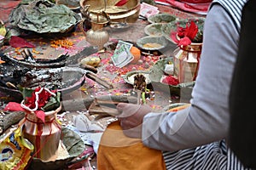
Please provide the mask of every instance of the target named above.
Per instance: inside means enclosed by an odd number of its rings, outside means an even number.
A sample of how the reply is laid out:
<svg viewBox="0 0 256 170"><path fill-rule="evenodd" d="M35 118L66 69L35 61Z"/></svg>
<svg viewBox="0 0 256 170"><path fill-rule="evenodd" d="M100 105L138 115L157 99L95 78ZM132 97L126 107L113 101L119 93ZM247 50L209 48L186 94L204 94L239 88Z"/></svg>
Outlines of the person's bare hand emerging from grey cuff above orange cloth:
<svg viewBox="0 0 256 170"><path fill-rule="evenodd" d="M121 113L118 118L125 135L142 138L143 117L151 112L152 108L148 105L119 103L117 109Z"/></svg>

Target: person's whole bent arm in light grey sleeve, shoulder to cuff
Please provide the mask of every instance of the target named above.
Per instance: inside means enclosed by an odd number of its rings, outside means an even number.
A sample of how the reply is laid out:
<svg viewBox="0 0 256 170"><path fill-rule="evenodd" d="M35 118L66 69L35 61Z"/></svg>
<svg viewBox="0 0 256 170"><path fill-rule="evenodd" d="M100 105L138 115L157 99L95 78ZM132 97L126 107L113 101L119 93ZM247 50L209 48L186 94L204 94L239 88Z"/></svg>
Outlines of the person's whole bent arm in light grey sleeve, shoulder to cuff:
<svg viewBox="0 0 256 170"><path fill-rule="evenodd" d="M191 106L177 115L150 114L143 120L143 144L182 150L224 139L228 133L228 95L239 34L230 16L216 5L204 28L203 49ZM232 35L232 36L231 36ZM235 38L234 38L235 37Z"/></svg>

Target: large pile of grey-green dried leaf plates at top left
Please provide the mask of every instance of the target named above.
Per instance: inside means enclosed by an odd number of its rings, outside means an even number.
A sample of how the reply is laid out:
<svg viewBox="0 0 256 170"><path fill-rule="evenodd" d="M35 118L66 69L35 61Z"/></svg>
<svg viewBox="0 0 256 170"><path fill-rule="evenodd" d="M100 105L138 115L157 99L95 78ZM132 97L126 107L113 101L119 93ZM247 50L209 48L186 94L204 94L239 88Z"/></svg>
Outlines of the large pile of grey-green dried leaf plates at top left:
<svg viewBox="0 0 256 170"><path fill-rule="evenodd" d="M80 19L80 15L66 5L56 5L48 0L20 3L9 14L11 26L37 33L68 32Z"/></svg>

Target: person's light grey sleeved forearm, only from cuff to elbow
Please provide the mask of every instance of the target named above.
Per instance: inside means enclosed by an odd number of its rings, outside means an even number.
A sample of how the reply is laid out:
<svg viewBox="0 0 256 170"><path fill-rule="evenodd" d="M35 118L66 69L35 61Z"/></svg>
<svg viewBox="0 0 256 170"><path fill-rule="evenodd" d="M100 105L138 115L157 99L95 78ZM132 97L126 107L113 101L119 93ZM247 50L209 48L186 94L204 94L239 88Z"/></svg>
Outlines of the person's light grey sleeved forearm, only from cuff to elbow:
<svg viewBox="0 0 256 170"><path fill-rule="evenodd" d="M186 108L176 113L150 113L143 121L143 144L157 150L183 150L223 139L228 117L201 116ZM192 113L194 112L194 113Z"/></svg>

